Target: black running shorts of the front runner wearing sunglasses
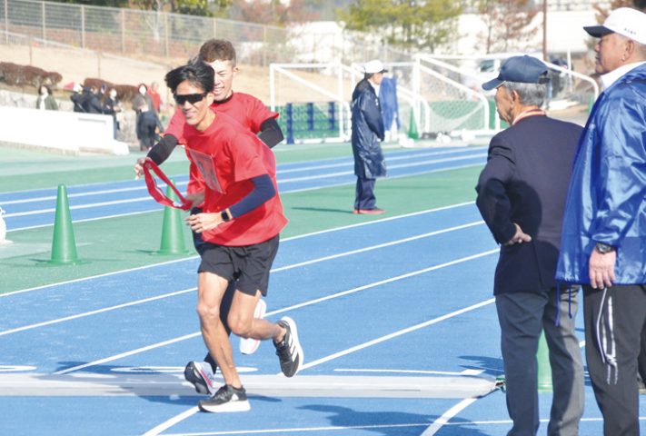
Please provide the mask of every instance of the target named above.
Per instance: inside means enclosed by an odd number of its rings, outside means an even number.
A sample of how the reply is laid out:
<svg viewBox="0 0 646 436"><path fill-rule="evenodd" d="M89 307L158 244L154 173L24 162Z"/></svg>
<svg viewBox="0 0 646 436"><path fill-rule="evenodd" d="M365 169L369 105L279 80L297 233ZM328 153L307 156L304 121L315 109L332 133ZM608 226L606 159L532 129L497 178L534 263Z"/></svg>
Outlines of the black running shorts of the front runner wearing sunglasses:
<svg viewBox="0 0 646 436"><path fill-rule="evenodd" d="M264 243L242 247L204 243L202 263L197 272L212 272L229 282L237 280L236 289L249 295L260 291L266 296L269 270L277 252L278 235Z"/></svg>

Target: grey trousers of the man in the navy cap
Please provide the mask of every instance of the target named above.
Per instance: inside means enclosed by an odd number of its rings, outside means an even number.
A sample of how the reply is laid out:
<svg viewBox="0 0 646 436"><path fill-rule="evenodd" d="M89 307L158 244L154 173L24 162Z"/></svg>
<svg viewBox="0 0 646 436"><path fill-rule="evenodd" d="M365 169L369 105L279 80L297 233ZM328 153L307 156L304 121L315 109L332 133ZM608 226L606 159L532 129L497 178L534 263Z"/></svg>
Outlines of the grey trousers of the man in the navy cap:
<svg viewBox="0 0 646 436"><path fill-rule="evenodd" d="M552 410L547 427L549 436L577 436L583 414L583 365L581 348L574 333L578 293L556 290L513 292L496 295L501 325L507 411L512 418L509 436L534 436L539 428L538 352L541 331L550 351L552 368ZM557 304L561 322L554 325Z"/></svg>

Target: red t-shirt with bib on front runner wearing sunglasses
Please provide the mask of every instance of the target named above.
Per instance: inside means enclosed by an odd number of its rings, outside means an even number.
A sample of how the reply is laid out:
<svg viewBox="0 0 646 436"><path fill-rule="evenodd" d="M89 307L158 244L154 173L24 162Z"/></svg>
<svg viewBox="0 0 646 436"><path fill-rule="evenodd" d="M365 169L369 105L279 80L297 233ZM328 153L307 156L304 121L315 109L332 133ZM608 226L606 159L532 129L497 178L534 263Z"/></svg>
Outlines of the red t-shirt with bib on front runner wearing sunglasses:
<svg viewBox="0 0 646 436"><path fill-rule="evenodd" d="M287 223L278 196L275 157L249 129L214 112L214 122L204 132L187 124L183 131L186 152L205 186L204 212L221 212L238 203L253 190L250 179L263 174L269 174L276 194L253 211L202 233L204 241L228 246L263 243Z"/></svg>

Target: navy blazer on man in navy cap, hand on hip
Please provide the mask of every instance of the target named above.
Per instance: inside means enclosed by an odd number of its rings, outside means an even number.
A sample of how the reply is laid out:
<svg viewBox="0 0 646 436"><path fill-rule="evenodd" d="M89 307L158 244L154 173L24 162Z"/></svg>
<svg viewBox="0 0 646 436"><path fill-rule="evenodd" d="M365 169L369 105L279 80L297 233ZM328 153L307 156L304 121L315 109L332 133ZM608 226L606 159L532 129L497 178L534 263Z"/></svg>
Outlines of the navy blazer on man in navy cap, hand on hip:
<svg viewBox="0 0 646 436"><path fill-rule="evenodd" d="M565 198L581 126L530 116L493 136L476 191L484 222L501 244L493 293L540 292L556 285ZM516 232L531 243L506 247Z"/></svg>

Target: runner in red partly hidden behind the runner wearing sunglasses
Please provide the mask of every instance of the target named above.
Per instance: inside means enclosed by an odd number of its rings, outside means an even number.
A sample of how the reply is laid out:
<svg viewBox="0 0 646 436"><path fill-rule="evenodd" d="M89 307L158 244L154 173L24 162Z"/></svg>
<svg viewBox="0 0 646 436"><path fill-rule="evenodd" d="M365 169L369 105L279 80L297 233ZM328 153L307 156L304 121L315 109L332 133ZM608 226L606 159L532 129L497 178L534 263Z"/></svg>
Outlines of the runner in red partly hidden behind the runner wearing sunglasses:
<svg viewBox="0 0 646 436"><path fill-rule="evenodd" d="M247 127L254 134L263 140L270 148L283 141L283 132L276 122L278 114L266 108L266 106L250 94L234 93L234 77L238 72L236 66L236 55L234 45L229 41L221 39L210 39L200 47L200 58L211 65L214 69L214 103L212 107L218 112L224 112L231 115L235 121ZM163 163L173 152L177 144L186 144L183 137L184 132L184 114L180 108L177 109L170 123L164 132L164 138L155 144L147 157L153 159L154 163ZM144 158L141 158L134 165L134 172L141 175ZM204 191L204 181L194 163L189 167L189 180L186 188L186 197L194 201L192 213L200 213L202 209L201 199ZM193 232L193 241L197 253L201 253L204 240L200 233ZM235 283L232 282L229 291L224 297L222 306L222 320L227 332L231 332L226 323L227 313L233 298ZM266 304L263 300L258 301L258 307L254 312L256 318L262 318L266 310ZM241 339L240 351L245 354L252 354L258 349L259 341L253 339ZM205 364L206 362L207 364ZM206 355L204 362L188 362L184 370L184 376L187 381L194 384L195 390L201 393L214 393L211 391L211 382L213 374L216 371L217 364L210 355Z"/></svg>

